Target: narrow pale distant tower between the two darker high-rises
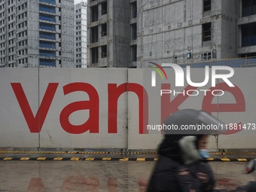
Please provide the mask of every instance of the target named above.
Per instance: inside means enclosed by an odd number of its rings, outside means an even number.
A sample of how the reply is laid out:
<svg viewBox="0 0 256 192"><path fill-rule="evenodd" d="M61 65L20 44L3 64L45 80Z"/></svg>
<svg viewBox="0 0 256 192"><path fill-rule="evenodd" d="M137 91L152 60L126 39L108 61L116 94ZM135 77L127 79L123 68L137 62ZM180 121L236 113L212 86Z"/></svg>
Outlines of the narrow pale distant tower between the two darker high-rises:
<svg viewBox="0 0 256 192"><path fill-rule="evenodd" d="M75 5L75 67L87 68L87 3Z"/></svg>

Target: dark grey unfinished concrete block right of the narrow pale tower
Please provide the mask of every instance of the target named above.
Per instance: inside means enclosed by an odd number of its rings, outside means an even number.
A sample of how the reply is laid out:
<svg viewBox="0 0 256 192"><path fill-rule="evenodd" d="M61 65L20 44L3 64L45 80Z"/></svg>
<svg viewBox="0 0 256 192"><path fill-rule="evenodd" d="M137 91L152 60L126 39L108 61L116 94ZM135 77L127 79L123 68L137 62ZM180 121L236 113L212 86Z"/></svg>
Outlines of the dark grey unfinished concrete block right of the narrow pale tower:
<svg viewBox="0 0 256 192"><path fill-rule="evenodd" d="M130 64L130 1L88 1L87 56L90 67Z"/></svg>

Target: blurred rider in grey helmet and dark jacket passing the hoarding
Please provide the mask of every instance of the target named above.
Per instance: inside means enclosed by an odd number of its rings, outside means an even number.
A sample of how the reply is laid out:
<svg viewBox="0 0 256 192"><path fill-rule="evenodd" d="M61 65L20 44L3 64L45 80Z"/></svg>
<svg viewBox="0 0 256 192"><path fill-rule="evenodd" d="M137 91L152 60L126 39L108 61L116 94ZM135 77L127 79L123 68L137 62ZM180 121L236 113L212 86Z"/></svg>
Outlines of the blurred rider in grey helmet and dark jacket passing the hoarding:
<svg viewBox="0 0 256 192"><path fill-rule="evenodd" d="M220 125L222 122L204 111L184 109L167 117L165 125ZM180 134L180 135L178 135ZM200 135L220 134L215 131L197 132L166 130L160 144L159 159L156 163L148 192L227 192L230 190L213 190L215 181L211 167L201 160L197 150L197 139ZM198 135L200 134L200 135ZM232 192L256 192L256 184L252 182Z"/></svg>

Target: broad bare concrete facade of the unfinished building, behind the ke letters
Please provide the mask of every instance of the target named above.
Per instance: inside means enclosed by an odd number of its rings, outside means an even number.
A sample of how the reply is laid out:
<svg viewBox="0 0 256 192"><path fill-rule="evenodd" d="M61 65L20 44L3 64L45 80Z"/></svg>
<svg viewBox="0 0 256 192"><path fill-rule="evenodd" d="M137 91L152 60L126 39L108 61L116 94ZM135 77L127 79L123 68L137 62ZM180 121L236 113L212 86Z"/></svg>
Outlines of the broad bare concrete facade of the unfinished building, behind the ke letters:
<svg viewBox="0 0 256 192"><path fill-rule="evenodd" d="M238 56L239 1L138 1L137 67ZM150 19L148 19L150 18Z"/></svg>

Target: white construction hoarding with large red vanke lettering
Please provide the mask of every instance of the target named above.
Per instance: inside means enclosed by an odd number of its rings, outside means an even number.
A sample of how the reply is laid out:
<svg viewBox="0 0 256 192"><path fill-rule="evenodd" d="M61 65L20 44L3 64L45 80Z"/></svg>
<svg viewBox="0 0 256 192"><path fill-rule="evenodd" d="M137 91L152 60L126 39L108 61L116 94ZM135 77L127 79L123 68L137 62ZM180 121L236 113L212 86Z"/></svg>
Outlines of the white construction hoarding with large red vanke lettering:
<svg viewBox="0 0 256 192"><path fill-rule="evenodd" d="M191 69L203 82L208 69ZM176 86L173 69L0 69L0 147L154 149L161 125L183 108L203 109L228 127L210 148L256 145L256 69L234 69L227 81L212 70L202 87ZM162 96L161 96L162 94ZM231 126L233 129L230 129Z"/></svg>

